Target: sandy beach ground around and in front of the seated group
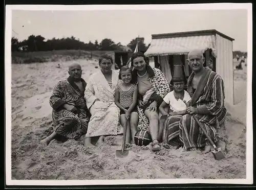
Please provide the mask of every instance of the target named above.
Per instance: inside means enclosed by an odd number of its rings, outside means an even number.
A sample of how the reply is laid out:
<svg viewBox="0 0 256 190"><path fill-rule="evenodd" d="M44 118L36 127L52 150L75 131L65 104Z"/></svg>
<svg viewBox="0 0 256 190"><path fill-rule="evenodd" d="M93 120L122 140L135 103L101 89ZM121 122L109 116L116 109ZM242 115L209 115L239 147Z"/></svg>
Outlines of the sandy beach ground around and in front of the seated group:
<svg viewBox="0 0 256 190"><path fill-rule="evenodd" d="M225 159L215 160L211 153L162 148L151 152L151 145L133 146L129 155L116 158L122 136L105 138L101 147L85 148L84 136L78 141L53 140L49 146L39 141L51 134L54 86L68 77L74 61L12 64L12 179L241 179L246 178L246 86L247 67L234 70L235 106L220 136L227 143ZM82 78L99 68L98 60L76 60ZM60 63L61 68L56 68ZM234 63L234 68L238 63Z"/></svg>

